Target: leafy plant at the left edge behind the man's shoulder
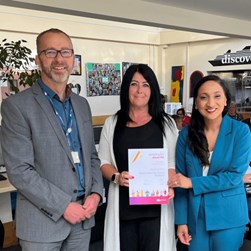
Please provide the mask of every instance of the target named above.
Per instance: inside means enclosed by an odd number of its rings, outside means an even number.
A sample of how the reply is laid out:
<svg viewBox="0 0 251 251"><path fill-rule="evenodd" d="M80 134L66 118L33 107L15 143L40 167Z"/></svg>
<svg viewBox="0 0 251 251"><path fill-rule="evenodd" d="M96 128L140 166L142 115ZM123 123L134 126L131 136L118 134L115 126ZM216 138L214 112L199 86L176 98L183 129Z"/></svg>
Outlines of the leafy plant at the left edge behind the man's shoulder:
<svg viewBox="0 0 251 251"><path fill-rule="evenodd" d="M19 92L18 86L32 86L39 77L39 71L32 69L32 63L35 61L31 56L32 51L24 43L27 41L23 39L11 42L3 39L0 44L2 81L7 81L10 91L14 93Z"/></svg>

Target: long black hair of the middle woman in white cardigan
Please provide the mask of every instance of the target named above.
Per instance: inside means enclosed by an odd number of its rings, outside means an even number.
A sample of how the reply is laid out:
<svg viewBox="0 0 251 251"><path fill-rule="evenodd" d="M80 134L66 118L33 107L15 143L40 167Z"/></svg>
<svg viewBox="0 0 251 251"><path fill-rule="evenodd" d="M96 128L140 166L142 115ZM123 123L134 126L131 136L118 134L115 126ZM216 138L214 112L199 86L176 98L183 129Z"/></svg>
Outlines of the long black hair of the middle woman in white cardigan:
<svg viewBox="0 0 251 251"><path fill-rule="evenodd" d="M151 96L148 103L148 112L152 116L155 123L159 126L162 134L165 135L165 123L167 123L170 128L172 128L174 125L169 115L167 115L163 110L157 78L153 70L146 64L131 65L125 72L121 85L120 110L117 112L118 120L116 129L124 128L128 122L132 122L132 119L129 116L129 87L136 72L140 73L150 85Z"/></svg>

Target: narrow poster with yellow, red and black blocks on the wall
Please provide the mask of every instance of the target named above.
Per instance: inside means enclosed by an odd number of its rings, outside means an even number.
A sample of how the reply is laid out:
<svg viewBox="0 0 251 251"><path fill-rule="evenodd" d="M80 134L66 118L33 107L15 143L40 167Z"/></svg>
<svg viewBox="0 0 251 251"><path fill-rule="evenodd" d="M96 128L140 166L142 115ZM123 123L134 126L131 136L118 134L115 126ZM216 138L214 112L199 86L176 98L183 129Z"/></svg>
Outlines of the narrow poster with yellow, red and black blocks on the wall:
<svg viewBox="0 0 251 251"><path fill-rule="evenodd" d="M184 66L172 67L171 82L171 102L180 102L183 100L183 82L184 82Z"/></svg>

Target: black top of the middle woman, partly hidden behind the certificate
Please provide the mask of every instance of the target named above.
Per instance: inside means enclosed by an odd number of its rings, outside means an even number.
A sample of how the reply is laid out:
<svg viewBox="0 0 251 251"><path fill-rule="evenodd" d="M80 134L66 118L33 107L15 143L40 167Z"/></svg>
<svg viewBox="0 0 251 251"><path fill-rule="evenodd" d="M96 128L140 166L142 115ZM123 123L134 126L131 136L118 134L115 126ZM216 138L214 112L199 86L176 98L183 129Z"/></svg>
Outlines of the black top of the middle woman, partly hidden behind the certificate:
<svg viewBox="0 0 251 251"><path fill-rule="evenodd" d="M118 171L128 171L128 149L163 148L163 135L151 120L139 127L126 127L114 132L113 150ZM119 187L119 213L121 220L160 217L160 205L129 205L129 188Z"/></svg>

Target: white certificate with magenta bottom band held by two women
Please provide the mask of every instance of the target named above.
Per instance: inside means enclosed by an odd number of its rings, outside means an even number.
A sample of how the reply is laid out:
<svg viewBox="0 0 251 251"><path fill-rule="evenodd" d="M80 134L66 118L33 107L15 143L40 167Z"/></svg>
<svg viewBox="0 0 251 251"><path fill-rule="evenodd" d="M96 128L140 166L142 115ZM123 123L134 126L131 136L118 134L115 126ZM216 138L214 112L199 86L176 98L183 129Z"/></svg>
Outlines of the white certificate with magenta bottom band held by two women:
<svg viewBox="0 0 251 251"><path fill-rule="evenodd" d="M130 205L168 204L167 149L129 149Z"/></svg>

